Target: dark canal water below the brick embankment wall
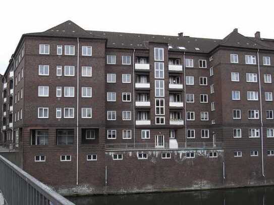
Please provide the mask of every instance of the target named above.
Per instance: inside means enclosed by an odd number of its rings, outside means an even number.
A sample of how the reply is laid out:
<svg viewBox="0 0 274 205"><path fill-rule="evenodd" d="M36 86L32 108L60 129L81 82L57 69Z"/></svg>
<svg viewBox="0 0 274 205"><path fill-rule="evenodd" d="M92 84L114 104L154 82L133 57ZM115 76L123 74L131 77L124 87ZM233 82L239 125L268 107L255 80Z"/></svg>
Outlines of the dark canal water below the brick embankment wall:
<svg viewBox="0 0 274 205"><path fill-rule="evenodd" d="M68 197L77 205L274 205L274 186L208 191Z"/></svg>

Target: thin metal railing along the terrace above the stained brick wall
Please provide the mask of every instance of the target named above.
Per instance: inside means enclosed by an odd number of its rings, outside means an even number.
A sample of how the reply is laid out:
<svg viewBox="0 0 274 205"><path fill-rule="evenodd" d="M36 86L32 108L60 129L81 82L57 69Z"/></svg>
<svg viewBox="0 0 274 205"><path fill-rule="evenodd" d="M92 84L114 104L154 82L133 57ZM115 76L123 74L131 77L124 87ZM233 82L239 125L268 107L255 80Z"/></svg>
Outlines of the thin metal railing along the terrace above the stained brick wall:
<svg viewBox="0 0 274 205"><path fill-rule="evenodd" d="M125 143L125 144L105 144L106 150L134 150L134 149L223 149L222 142L198 142L198 143L165 143L157 145L155 143Z"/></svg>

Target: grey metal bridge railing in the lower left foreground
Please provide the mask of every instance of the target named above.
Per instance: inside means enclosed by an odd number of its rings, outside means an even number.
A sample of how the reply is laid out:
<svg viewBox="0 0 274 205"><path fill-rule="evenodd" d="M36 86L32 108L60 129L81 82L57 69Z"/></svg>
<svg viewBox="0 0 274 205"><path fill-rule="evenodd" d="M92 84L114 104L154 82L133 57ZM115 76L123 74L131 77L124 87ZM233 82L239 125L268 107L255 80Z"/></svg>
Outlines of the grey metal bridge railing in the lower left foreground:
<svg viewBox="0 0 274 205"><path fill-rule="evenodd" d="M9 205L75 205L0 155L0 190Z"/></svg>

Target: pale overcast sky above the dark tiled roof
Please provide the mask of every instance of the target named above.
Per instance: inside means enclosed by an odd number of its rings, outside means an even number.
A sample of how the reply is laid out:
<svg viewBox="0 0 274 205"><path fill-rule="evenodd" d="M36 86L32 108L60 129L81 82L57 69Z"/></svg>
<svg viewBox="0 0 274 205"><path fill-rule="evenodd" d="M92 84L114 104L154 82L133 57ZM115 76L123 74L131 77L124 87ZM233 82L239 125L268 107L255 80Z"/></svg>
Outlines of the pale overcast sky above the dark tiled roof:
<svg viewBox="0 0 274 205"><path fill-rule="evenodd" d="M87 30L224 38L234 28L246 36L274 38L272 1L24 0L1 1L0 73L23 33L72 20Z"/></svg>

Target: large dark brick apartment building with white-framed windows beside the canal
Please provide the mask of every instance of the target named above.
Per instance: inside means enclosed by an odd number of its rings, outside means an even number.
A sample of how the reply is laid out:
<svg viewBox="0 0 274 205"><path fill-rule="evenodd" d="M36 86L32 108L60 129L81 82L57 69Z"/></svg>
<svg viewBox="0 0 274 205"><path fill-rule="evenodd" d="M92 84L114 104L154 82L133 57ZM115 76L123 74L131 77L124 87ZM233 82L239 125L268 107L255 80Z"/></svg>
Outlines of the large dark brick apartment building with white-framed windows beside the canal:
<svg viewBox="0 0 274 205"><path fill-rule="evenodd" d="M2 142L63 194L273 184L274 39L84 30L22 35Z"/></svg>

